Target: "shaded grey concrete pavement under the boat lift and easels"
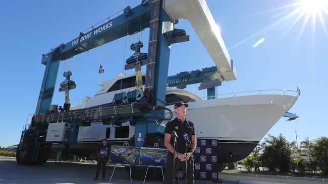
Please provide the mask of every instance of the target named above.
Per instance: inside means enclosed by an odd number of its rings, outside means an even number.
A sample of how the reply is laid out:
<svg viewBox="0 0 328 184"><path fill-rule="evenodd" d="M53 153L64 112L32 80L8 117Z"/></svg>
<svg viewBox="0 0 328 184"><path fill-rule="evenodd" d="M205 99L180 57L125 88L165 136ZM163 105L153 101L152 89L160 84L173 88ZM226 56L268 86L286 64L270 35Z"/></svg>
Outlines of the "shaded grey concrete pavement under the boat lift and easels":
<svg viewBox="0 0 328 184"><path fill-rule="evenodd" d="M62 162L47 161L44 165L18 165L15 157L0 157L0 184L2 183L120 183L128 184L130 175L124 168L116 168L112 181L114 167L107 167L106 180L92 180L96 165L92 162ZM99 175L101 177L101 173ZM143 180L132 179L132 183L143 183ZM146 180L147 184L159 184L160 180ZM181 180L180 183L184 183ZM195 183L209 184L212 181L196 180Z"/></svg>

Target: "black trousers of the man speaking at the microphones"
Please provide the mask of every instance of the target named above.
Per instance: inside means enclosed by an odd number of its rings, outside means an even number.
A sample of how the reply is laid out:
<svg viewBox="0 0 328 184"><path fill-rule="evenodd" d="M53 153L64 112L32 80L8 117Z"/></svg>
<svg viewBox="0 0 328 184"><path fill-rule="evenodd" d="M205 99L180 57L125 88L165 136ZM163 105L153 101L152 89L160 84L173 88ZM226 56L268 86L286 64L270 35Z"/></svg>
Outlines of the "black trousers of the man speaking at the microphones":
<svg viewBox="0 0 328 184"><path fill-rule="evenodd" d="M189 160L181 161L179 158L175 158L175 167L173 171L173 154L169 153L167 165L165 168L165 179L164 184L172 184L173 177L176 178L178 175L178 165L179 167L182 166L182 170L184 173L184 177L186 178L186 162L187 162L187 179L188 184L194 184L194 160L192 157L189 158Z"/></svg>

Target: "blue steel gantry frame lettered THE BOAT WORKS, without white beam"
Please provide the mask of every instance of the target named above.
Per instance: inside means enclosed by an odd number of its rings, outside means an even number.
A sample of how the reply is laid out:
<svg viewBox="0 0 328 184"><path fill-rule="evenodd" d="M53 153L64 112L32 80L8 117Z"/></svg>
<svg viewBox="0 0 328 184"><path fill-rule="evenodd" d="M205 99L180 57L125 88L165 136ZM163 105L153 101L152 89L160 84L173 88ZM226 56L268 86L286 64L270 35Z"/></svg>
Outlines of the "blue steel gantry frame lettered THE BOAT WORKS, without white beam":
<svg viewBox="0 0 328 184"><path fill-rule="evenodd" d="M172 43L180 43L189 40L184 30L174 29L174 23L174 20L172 20L163 9L163 1L142 1L141 5L133 9L128 6L124 9L122 15L114 19L108 19L106 23L92 28L89 32L80 33L78 38L66 44L61 44L57 48L51 50L51 52L42 55L41 63L46 65L46 67L35 110L36 115L32 123L47 124L54 122L54 119L62 119L71 122L72 130L69 144L76 143L79 126L90 125L90 122L95 121L113 123L113 119L117 120L125 116L130 117L130 119L138 117L136 118L137 123L133 123L135 125L135 135L141 135L138 137L141 137L141 139L135 139L136 146L144 145L148 133L162 134L165 126L158 123L158 120L164 118L164 110L157 107L164 107L166 105L165 95L170 46ZM62 114L49 114L48 108L51 105L60 61L69 59L77 54L121 37L135 34L145 28L149 28L148 54L147 60L144 63L146 65L145 100L137 104L139 107L138 110L131 106L129 111L126 112L124 110L117 113L118 110L122 110L123 108L109 105L111 107L107 108L115 109L115 114L106 114L105 117L99 116L102 111L98 111L98 108L83 110L86 113L81 116L77 116L76 111ZM145 108L140 108L140 106ZM95 109L97 109L97 112L100 114L94 113L96 111ZM90 112L91 114L93 113L93 118L88 117L90 116ZM90 120L86 120L88 118ZM33 132L30 131L30 133Z"/></svg>

